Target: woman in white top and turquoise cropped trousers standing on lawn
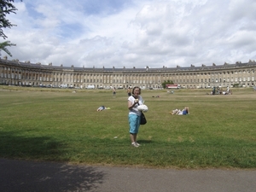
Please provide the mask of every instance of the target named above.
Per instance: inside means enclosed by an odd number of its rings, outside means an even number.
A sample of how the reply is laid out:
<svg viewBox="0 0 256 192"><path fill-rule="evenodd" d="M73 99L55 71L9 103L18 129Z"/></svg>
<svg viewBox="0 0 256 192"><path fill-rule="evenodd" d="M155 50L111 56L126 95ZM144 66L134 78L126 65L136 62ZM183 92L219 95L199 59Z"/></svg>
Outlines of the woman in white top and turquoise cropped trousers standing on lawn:
<svg viewBox="0 0 256 192"><path fill-rule="evenodd" d="M143 97L141 95L141 88L134 87L131 91L132 96L128 98L128 109L129 109L129 125L130 125L130 138L131 145L134 147L139 147L140 144L137 143L137 133L140 126L140 116L141 112L137 109L139 105L143 104Z"/></svg>

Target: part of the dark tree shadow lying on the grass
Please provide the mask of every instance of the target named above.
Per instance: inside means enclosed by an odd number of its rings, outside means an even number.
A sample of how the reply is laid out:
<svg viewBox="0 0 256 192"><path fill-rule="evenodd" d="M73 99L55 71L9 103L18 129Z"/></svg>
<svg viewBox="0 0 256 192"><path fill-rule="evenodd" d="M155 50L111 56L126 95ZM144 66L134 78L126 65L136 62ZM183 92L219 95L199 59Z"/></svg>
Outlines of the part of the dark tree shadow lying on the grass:
<svg viewBox="0 0 256 192"><path fill-rule="evenodd" d="M23 160L60 160L65 143L53 137L22 135L22 131L0 131L0 157Z"/></svg>

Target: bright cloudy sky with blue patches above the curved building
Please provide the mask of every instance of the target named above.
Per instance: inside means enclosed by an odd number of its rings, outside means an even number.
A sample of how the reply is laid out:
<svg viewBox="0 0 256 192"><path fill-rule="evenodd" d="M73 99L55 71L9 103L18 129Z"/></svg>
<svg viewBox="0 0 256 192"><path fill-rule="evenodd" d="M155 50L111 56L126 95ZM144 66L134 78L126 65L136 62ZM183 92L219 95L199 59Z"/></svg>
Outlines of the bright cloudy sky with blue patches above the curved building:
<svg viewBox="0 0 256 192"><path fill-rule="evenodd" d="M256 60L255 0L15 0L9 60L96 68ZM4 39L3 39L4 41ZM1 51L1 57L7 55Z"/></svg>

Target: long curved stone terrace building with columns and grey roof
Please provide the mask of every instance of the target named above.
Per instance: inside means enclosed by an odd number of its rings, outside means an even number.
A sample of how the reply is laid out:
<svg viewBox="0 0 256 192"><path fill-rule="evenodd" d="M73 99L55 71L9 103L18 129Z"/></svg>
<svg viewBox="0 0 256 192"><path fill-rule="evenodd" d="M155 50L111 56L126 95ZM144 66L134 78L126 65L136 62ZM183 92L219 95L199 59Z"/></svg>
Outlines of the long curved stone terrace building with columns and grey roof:
<svg viewBox="0 0 256 192"><path fill-rule="evenodd" d="M0 59L0 84L23 86L63 86L86 88L123 87L139 85L142 88L160 88L164 81L172 80L183 88L206 88L212 86L243 87L255 85L256 62L224 63L217 66L201 67L160 67L160 68L96 68L63 67L9 61ZM91 86L94 85L94 86Z"/></svg>

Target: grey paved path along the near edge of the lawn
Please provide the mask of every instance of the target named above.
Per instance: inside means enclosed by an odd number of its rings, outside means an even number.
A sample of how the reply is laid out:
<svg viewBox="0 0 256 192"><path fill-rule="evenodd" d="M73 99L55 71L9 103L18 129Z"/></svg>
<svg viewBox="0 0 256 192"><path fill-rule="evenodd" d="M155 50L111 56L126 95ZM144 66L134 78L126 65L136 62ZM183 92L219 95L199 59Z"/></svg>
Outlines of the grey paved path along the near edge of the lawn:
<svg viewBox="0 0 256 192"><path fill-rule="evenodd" d="M0 159L4 192L255 192L256 171L71 166Z"/></svg>

